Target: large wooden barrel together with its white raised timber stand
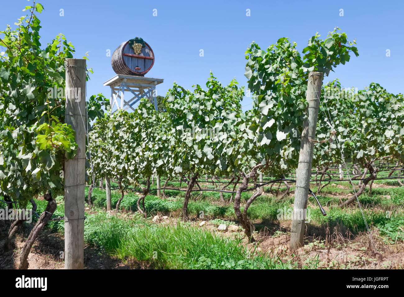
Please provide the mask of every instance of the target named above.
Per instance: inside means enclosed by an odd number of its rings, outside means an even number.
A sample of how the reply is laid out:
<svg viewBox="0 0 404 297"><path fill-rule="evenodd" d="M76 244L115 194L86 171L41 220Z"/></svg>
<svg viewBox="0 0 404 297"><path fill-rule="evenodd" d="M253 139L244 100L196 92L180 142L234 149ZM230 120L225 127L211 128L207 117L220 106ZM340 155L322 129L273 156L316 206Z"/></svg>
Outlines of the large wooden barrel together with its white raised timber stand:
<svg viewBox="0 0 404 297"><path fill-rule="evenodd" d="M111 88L111 108L132 109L140 99L146 97L157 110L156 85L164 80L145 77L154 64L154 53L142 38L133 38L122 42L111 57L112 69L117 74L104 82ZM130 100L124 99L125 91L132 93Z"/></svg>

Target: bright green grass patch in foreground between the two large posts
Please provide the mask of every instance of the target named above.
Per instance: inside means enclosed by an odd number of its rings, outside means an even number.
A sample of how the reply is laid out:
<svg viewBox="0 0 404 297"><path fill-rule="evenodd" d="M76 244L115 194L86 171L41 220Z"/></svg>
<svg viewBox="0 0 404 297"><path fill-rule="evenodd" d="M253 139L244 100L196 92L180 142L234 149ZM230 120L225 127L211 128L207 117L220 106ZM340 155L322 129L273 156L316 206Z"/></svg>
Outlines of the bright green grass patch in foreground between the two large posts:
<svg viewBox="0 0 404 297"><path fill-rule="evenodd" d="M133 258L154 268L171 269L276 269L297 268L295 263L253 256L241 238L212 234L189 223L148 224L143 219L124 221L90 215L84 229L87 242L103 246L120 259Z"/></svg>

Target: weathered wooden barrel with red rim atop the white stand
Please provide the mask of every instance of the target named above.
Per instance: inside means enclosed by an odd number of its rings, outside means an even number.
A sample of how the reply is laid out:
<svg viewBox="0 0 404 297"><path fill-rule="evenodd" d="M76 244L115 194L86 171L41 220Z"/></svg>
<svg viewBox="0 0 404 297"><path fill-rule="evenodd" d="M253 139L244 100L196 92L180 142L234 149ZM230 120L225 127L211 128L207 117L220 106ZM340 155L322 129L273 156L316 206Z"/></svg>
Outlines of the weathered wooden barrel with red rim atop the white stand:
<svg viewBox="0 0 404 297"><path fill-rule="evenodd" d="M133 48L129 46L129 40L122 42L114 51L111 57L112 69L116 74L145 76L153 67L154 53L149 44L136 55Z"/></svg>

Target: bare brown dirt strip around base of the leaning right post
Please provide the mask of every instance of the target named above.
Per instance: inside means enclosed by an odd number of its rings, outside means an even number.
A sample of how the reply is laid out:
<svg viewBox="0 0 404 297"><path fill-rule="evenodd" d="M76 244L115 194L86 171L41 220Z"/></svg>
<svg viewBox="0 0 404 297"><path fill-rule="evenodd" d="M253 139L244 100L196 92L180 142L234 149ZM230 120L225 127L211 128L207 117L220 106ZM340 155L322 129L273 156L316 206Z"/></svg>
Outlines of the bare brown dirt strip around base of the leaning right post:
<svg viewBox="0 0 404 297"><path fill-rule="evenodd" d="M199 227L199 223L199 221L195 222L195 226ZM262 227L260 220L255 220L253 223ZM290 223L291 221L282 221L282 225L265 224L265 227L254 235L256 242L248 243L246 239L243 242L255 255L262 254L271 258L280 257L284 262L294 259L298 261L299 268L304 265L310 267L307 265L308 263L318 261L318 268L404 269L404 244L386 244L378 240L379 234L372 234L377 251L382 255L382 260L380 260L379 255L373 255L374 250L367 233L362 232L352 236L349 234L349 230L339 226L333 230L331 228L320 230L317 226L308 225L304 248L291 253L289 250ZM202 228L222 234L222 236L245 238L244 232L240 229L219 232L217 225L208 221Z"/></svg>

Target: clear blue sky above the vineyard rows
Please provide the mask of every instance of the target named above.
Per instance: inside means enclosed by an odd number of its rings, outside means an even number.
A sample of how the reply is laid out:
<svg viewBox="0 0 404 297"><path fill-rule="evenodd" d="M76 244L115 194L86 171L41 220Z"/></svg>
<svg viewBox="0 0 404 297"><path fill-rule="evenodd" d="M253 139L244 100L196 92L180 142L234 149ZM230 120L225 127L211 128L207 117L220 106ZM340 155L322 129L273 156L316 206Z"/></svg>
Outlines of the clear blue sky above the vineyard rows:
<svg viewBox="0 0 404 297"><path fill-rule="evenodd" d="M344 87L377 82L391 93L403 93L404 2L391 1L129 1L129 0L40 0L45 10L42 45L57 34L65 34L76 48L75 58L89 52L87 67L94 74L88 95L110 95L103 82L115 73L111 53L123 41L143 38L156 57L147 77L164 78L158 95L165 95L174 81L191 88L204 86L209 71L223 83L244 77L247 46L255 40L267 48L278 38L297 42L299 51L316 32L325 38L338 26L348 39L356 39L359 57L339 65L324 82L338 77ZM0 0L0 27L15 27L22 9L32 1ZM63 9L64 16L60 16ZM157 10L157 16L153 10ZM247 9L250 16L247 16ZM343 16L340 16L343 9ZM204 56L200 57L200 49ZM390 56L386 57L386 50ZM243 110L251 107L245 97Z"/></svg>

